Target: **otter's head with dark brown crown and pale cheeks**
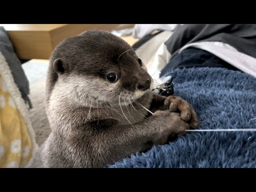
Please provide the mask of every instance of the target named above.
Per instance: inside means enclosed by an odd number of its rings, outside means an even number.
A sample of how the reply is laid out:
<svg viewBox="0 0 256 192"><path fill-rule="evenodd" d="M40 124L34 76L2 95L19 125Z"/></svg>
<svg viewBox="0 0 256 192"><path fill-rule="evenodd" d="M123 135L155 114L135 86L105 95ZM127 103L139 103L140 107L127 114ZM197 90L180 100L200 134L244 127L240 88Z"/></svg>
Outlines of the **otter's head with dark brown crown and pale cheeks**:
<svg viewBox="0 0 256 192"><path fill-rule="evenodd" d="M124 105L128 98L136 100L150 92L153 85L127 42L110 32L89 30L54 49L46 101L58 89L58 94L80 106L88 106L88 101L119 105L119 100Z"/></svg>

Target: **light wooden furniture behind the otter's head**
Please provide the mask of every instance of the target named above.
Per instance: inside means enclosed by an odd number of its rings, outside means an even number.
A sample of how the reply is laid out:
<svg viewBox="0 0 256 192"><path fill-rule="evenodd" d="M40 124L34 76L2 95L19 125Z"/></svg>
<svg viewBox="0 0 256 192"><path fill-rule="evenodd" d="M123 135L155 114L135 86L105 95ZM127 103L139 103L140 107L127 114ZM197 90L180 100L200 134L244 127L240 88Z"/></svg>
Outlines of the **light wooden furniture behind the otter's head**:
<svg viewBox="0 0 256 192"><path fill-rule="evenodd" d="M8 32L20 59L49 59L54 47L65 38L86 30L111 31L126 24L0 24ZM134 24L129 24L129 27Z"/></svg>

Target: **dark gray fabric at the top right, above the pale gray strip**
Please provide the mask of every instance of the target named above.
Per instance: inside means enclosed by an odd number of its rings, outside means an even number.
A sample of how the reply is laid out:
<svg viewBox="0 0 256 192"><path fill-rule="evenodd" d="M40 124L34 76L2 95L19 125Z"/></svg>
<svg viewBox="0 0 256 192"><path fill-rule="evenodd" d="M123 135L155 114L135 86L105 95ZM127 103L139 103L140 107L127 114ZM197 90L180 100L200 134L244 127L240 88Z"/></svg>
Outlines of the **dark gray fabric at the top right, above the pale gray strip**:
<svg viewBox="0 0 256 192"><path fill-rule="evenodd" d="M186 44L206 41L227 43L256 58L256 24L185 24L164 44L173 57Z"/></svg>

